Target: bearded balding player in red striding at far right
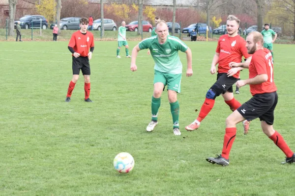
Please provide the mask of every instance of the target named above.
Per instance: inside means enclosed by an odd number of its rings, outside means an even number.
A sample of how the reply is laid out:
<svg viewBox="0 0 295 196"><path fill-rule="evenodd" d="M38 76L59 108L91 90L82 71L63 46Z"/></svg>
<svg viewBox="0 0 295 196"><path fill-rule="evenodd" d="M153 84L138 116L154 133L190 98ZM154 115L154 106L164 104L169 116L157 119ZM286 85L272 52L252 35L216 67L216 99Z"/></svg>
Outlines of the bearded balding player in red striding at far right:
<svg viewBox="0 0 295 196"><path fill-rule="evenodd" d="M246 38L246 47L249 54L253 54L249 66L249 79L239 80L236 86L250 85L252 98L242 104L226 119L226 129L221 155L206 160L212 164L229 165L229 154L236 138L236 124L244 120L252 121L259 118L263 132L286 155L283 163L294 163L295 153L288 147L285 140L273 129L274 108L278 102L277 88L273 81L272 55L268 49L263 48L263 36L260 32L251 32ZM232 67L241 66L232 63Z"/></svg>

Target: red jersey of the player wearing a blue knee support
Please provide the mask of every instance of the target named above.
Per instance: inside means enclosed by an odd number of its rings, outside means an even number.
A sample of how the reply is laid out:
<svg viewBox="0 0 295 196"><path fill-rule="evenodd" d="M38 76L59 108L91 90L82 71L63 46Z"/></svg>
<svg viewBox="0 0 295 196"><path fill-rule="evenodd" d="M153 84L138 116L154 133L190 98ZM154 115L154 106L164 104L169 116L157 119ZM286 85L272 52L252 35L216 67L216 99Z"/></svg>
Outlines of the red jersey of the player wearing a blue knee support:
<svg viewBox="0 0 295 196"><path fill-rule="evenodd" d="M230 62L241 62L242 56L249 58L251 54L248 54L246 48L246 41L239 35L235 37L229 37L228 34L220 36L216 52L219 53L218 60L218 73L228 73L231 69ZM237 72L234 77L239 77Z"/></svg>

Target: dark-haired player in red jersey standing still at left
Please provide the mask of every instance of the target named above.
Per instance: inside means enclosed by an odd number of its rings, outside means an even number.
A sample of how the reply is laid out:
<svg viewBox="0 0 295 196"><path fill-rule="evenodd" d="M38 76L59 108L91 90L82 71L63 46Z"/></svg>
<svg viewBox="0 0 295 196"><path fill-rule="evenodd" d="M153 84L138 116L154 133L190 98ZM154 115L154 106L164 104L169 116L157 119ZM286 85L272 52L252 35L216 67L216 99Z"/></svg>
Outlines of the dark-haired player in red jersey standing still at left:
<svg viewBox="0 0 295 196"><path fill-rule="evenodd" d="M92 102L89 98L90 94L90 65L89 60L92 57L94 50L93 34L87 31L89 20L87 18L80 19L80 30L72 34L68 49L72 52L72 69L73 78L70 81L68 92L66 95L66 102L71 101L71 95L78 81L80 70L82 70L84 77L85 101ZM89 51L90 49L90 51Z"/></svg>

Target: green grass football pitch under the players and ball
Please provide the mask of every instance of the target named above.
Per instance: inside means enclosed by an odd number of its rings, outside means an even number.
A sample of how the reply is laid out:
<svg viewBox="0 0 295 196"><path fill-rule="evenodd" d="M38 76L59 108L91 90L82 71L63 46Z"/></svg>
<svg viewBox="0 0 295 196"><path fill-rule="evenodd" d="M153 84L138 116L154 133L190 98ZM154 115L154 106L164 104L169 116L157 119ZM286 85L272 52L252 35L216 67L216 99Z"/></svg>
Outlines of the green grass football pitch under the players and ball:
<svg viewBox="0 0 295 196"><path fill-rule="evenodd" d="M138 42L129 42L133 48ZM248 135L238 124L230 166L205 159L221 153L225 119L231 113L222 98L202 126L186 132L216 80L209 73L216 42L187 42L194 75L183 74L181 136L172 130L166 91L159 124L148 133L153 60L147 50L137 58L115 58L117 42L95 42L91 65L93 103L84 102L82 75L65 103L72 77L68 42L1 42L0 195L1 196L285 196L294 193L295 165L268 139L259 120ZM295 45L274 45L274 78L279 102L274 127L295 150ZM121 56L124 56L124 49ZM180 53L183 72L184 53ZM241 73L247 78L248 71ZM251 98L249 87L236 99ZM135 159L128 174L113 167L122 151Z"/></svg>

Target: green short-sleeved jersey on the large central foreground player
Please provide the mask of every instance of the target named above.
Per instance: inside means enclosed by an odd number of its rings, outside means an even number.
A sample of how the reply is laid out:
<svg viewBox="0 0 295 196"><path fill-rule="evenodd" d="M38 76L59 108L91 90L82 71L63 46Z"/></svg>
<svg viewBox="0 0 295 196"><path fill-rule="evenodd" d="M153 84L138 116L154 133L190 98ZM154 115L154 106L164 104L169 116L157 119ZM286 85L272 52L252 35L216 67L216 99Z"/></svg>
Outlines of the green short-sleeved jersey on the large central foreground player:
<svg viewBox="0 0 295 196"><path fill-rule="evenodd" d="M163 73L182 73L178 50L185 52L188 47L177 37L168 35L166 42L159 44L158 37L152 36L139 43L139 48L150 50L155 70Z"/></svg>

